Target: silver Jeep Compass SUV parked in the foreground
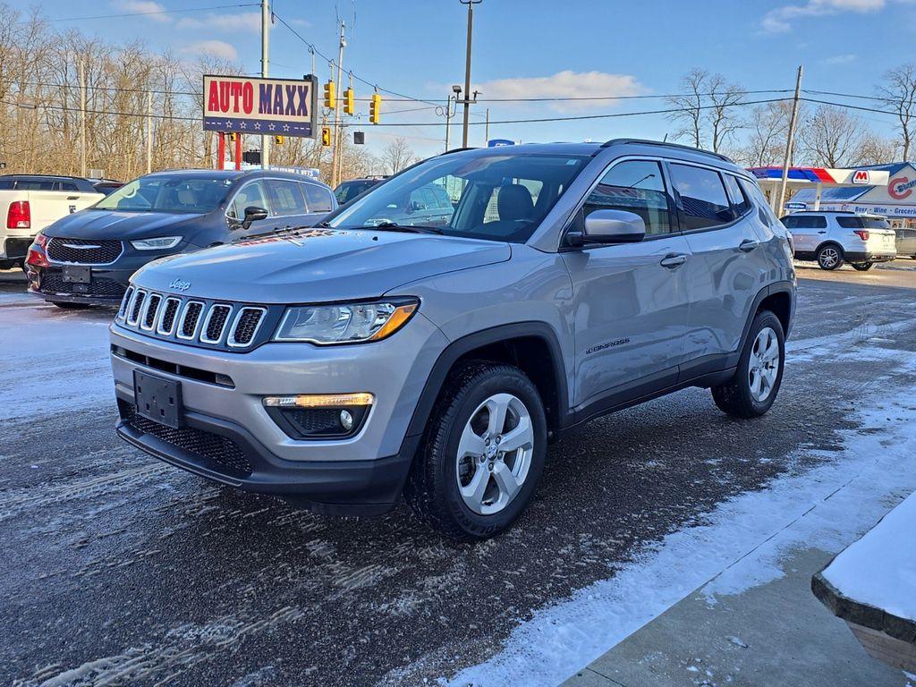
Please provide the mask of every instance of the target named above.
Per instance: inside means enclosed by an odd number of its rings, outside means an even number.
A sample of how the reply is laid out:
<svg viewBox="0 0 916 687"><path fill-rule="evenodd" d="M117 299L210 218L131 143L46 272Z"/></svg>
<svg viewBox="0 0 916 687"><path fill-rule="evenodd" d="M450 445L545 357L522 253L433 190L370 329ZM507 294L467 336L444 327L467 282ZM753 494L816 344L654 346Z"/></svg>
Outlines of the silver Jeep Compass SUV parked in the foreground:
<svg viewBox="0 0 916 687"><path fill-rule="evenodd" d="M390 219L446 183L447 222ZM111 325L117 431L226 485L363 515L403 492L485 538L587 420L684 387L767 412L794 308L786 231L723 156L455 151L311 230L140 269Z"/></svg>

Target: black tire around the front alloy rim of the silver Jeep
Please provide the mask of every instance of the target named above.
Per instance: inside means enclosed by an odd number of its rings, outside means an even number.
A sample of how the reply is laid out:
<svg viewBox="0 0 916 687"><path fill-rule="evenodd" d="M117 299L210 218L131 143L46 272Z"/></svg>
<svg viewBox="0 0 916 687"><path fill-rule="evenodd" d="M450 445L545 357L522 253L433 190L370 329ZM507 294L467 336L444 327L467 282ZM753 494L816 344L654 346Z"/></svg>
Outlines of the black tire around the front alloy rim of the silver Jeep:
<svg viewBox="0 0 916 687"><path fill-rule="evenodd" d="M499 393L512 394L525 404L534 428L534 451L528 476L516 497L499 513L483 516L474 513L464 504L458 491L455 457L458 454L458 444L464 425L471 418L471 414L486 398ZM437 445L443 445L444 452L432 456L435 460L434 484L438 486L436 498L441 499L443 510L464 533L475 539L485 539L507 529L525 510L534 494L547 452L547 421L544 407L537 388L528 377L520 371L512 371L512 368L504 366L486 370L482 376L476 376L473 384L465 387L463 392L454 398L453 404L457 404L458 408L452 414L449 426L438 428L439 432L444 432L445 441L437 442Z"/></svg>

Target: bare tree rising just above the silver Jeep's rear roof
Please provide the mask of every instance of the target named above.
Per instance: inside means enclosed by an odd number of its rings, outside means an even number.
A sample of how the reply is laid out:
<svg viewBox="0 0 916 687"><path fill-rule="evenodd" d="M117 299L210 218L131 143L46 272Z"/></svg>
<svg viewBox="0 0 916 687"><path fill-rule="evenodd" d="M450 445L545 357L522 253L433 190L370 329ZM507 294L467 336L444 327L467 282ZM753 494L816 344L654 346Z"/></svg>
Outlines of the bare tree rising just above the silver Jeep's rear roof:
<svg viewBox="0 0 916 687"><path fill-rule="evenodd" d="M736 110L736 105L744 100L744 89L727 82L722 74L701 69L687 72L681 88L685 93L668 99L677 108L669 118L682 124L675 138L685 138L695 147L704 147L708 141L709 147L719 152L744 127Z"/></svg>

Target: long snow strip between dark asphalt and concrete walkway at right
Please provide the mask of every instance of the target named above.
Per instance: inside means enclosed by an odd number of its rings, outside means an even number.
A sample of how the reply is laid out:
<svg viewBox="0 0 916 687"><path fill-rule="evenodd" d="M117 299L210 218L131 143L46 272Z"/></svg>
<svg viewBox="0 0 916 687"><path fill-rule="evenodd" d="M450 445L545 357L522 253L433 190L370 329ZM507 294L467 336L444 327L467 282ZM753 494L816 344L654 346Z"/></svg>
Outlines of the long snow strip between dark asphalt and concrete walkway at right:
<svg viewBox="0 0 916 687"><path fill-rule="evenodd" d="M867 329L856 338L874 333ZM795 360L835 355L799 344ZM909 351L866 346L845 357L852 363L856 354L879 355L889 369L916 372ZM916 390L881 387L859 408L855 419L863 429L845 432L845 449L824 453L829 463L726 501L702 525L668 535L611 579L538 613L491 660L440 682L555 685L700 587L714 604L719 594L778 579L783 552L841 551L916 489Z"/></svg>

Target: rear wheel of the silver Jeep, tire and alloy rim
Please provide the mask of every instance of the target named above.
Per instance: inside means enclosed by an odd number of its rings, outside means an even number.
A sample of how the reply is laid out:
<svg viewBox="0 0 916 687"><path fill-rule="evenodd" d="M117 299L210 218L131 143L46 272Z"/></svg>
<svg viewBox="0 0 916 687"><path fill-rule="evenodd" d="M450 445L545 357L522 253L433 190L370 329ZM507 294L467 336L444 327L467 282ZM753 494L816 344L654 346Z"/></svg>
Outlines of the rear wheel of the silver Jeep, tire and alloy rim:
<svg viewBox="0 0 916 687"><path fill-rule="evenodd" d="M712 389L715 405L736 418L763 415L780 391L785 355L780 319L770 311L758 312L738 358L735 376Z"/></svg>

